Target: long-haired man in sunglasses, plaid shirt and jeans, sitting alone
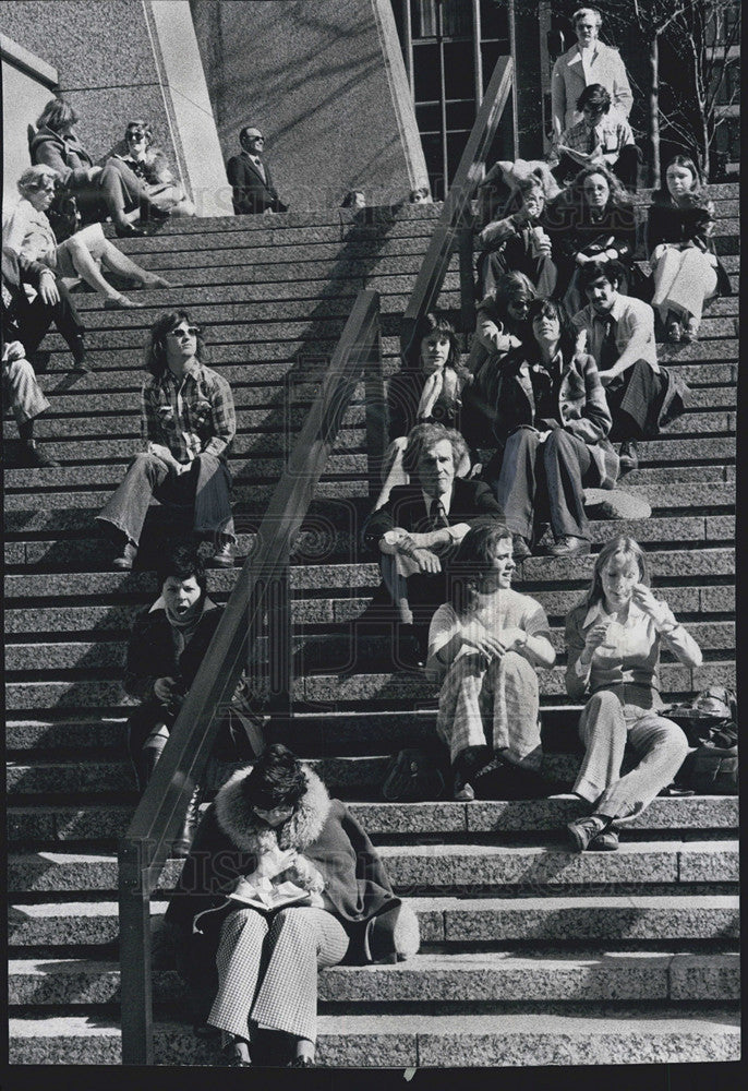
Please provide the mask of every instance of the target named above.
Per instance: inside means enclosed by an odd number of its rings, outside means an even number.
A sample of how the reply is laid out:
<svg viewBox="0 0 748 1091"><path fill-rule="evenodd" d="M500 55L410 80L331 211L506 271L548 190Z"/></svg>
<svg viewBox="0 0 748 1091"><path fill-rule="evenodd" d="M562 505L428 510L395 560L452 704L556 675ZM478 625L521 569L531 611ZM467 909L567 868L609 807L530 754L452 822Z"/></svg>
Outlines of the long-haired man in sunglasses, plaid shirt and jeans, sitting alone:
<svg viewBox="0 0 748 1091"><path fill-rule="evenodd" d="M96 518L118 539L113 566L132 568L150 501L191 505L193 528L215 540L213 565L233 565L229 445L237 431L231 387L201 362L205 346L186 311L165 311L150 329L141 424L146 449Z"/></svg>

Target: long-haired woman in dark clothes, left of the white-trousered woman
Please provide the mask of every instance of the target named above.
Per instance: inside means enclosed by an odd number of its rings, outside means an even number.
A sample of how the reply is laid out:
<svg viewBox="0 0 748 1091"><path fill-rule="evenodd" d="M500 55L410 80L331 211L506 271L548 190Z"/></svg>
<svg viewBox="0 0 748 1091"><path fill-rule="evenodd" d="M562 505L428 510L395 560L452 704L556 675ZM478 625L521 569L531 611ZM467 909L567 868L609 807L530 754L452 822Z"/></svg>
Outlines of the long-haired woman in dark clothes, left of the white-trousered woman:
<svg viewBox="0 0 748 1091"><path fill-rule="evenodd" d="M578 280L588 262L618 261L630 272L637 244L634 202L603 164L584 167L558 195L546 211L546 230L569 317L586 303Z"/></svg>

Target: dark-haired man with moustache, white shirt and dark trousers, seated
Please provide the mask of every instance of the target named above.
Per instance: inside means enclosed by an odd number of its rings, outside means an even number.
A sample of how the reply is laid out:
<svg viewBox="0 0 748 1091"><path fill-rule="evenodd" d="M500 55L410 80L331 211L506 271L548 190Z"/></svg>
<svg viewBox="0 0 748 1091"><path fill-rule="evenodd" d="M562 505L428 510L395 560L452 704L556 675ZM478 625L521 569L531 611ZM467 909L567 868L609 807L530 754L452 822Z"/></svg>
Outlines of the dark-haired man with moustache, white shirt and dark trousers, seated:
<svg viewBox="0 0 748 1091"><path fill-rule="evenodd" d="M598 364L613 428L620 440L620 475L637 469L637 440L657 435L667 376L657 363L654 311L649 303L618 291L625 275L617 261L588 262L580 287L589 302L571 320L587 334L587 351ZM671 407L671 419L675 416Z"/></svg>

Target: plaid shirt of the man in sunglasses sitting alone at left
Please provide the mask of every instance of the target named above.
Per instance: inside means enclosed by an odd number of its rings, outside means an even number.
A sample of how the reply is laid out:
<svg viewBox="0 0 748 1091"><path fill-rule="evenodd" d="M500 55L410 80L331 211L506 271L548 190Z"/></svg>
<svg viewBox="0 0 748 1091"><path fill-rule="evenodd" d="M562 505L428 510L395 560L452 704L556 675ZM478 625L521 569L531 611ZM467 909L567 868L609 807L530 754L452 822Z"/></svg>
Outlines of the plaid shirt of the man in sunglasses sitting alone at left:
<svg viewBox="0 0 748 1091"><path fill-rule="evenodd" d="M167 446L180 463L198 454L226 458L237 431L231 387L219 374L197 363L181 383L167 368L148 375L141 393L141 430L146 444Z"/></svg>

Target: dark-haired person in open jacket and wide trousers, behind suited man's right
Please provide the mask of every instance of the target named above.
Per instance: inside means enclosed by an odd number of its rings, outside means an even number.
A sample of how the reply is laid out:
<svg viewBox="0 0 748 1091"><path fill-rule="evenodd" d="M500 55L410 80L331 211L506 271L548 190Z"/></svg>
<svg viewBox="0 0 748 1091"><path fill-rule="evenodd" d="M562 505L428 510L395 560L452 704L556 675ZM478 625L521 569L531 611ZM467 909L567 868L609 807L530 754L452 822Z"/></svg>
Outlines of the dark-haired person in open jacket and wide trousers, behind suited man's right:
<svg viewBox="0 0 748 1091"><path fill-rule="evenodd" d="M618 459L607 442L611 413L598 368L577 350L559 303L535 299L529 335L500 365L494 411L496 454L483 471L517 560L550 521L554 556L589 553L583 490L612 488Z"/></svg>

